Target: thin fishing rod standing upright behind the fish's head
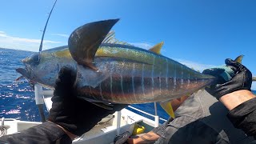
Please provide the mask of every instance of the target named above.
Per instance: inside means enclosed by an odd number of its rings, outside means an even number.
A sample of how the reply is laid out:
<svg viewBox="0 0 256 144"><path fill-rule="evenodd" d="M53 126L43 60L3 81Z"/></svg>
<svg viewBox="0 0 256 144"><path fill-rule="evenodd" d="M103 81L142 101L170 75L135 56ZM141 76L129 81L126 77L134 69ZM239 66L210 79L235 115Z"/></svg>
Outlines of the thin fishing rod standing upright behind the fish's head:
<svg viewBox="0 0 256 144"><path fill-rule="evenodd" d="M57 0L55 0L54 6L56 5L56 2L57 2ZM40 62L40 54L41 54L41 51L42 51L43 38L44 38L45 33L46 33L46 27L48 25L50 15L54 10L54 6L50 10L50 14L47 18L46 25L45 25L44 30L42 32L42 38L41 38L41 42L40 42L40 46L39 46L38 62ZM35 91L35 103L38 106L41 121L46 122L46 117L45 117L44 110L43 110L44 102L43 102L43 98L42 98L42 86L39 86L38 84L35 84L34 85L34 91Z"/></svg>

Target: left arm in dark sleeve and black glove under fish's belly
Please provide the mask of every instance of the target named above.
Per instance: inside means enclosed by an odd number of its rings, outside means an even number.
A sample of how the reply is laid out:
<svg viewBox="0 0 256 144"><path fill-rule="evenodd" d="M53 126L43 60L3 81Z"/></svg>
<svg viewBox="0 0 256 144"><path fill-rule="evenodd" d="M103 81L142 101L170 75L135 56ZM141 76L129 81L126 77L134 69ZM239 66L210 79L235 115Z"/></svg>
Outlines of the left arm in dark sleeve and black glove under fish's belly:
<svg viewBox="0 0 256 144"><path fill-rule="evenodd" d="M66 67L59 72L51 99L53 104L47 122L0 138L0 143L71 143L74 138L92 129L97 122L127 105L113 105L106 110L76 98L76 75Z"/></svg>

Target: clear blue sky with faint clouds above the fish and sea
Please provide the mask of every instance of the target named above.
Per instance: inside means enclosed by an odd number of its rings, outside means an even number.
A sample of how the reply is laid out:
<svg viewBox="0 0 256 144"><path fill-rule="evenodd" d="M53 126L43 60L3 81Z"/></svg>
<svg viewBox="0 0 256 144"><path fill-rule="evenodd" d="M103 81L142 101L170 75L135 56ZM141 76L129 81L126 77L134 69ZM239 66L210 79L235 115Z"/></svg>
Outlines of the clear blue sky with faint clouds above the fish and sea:
<svg viewBox="0 0 256 144"><path fill-rule="evenodd" d="M53 3L2 1L0 47L38 51ZM163 41L163 55L197 70L244 54L243 64L256 75L255 6L254 0L58 0L43 50L66 45L70 33L87 22L120 18L113 30L121 41L143 48Z"/></svg>

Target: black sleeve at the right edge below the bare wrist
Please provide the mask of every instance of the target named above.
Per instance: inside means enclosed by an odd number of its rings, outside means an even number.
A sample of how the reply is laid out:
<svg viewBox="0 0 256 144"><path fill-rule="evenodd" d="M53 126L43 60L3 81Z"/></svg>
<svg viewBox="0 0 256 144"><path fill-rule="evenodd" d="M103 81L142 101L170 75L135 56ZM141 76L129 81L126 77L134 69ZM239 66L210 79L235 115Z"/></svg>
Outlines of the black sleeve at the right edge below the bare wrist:
<svg viewBox="0 0 256 144"><path fill-rule="evenodd" d="M230 110L227 117L234 127L242 129L248 136L256 138L256 98L243 102Z"/></svg>

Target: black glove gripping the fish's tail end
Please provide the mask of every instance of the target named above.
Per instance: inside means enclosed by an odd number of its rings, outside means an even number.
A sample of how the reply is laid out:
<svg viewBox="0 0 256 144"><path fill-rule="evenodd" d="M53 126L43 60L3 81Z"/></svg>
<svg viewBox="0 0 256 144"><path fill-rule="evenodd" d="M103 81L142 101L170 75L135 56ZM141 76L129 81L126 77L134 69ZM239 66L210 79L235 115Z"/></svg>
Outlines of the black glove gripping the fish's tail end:
<svg viewBox="0 0 256 144"><path fill-rule="evenodd" d="M234 62L232 59L227 58L226 66L229 66L232 70L234 70L234 77L230 79L228 82L218 81L217 84L206 87L206 90L212 94L217 99L221 98L225 94L230 94L237 90L250 90L252 83L252 74L250 70L246 68L246 66L242 66L239 62ZM215 77L216 75L214 69L204 70L203 74L210 74Z"/></svg>

